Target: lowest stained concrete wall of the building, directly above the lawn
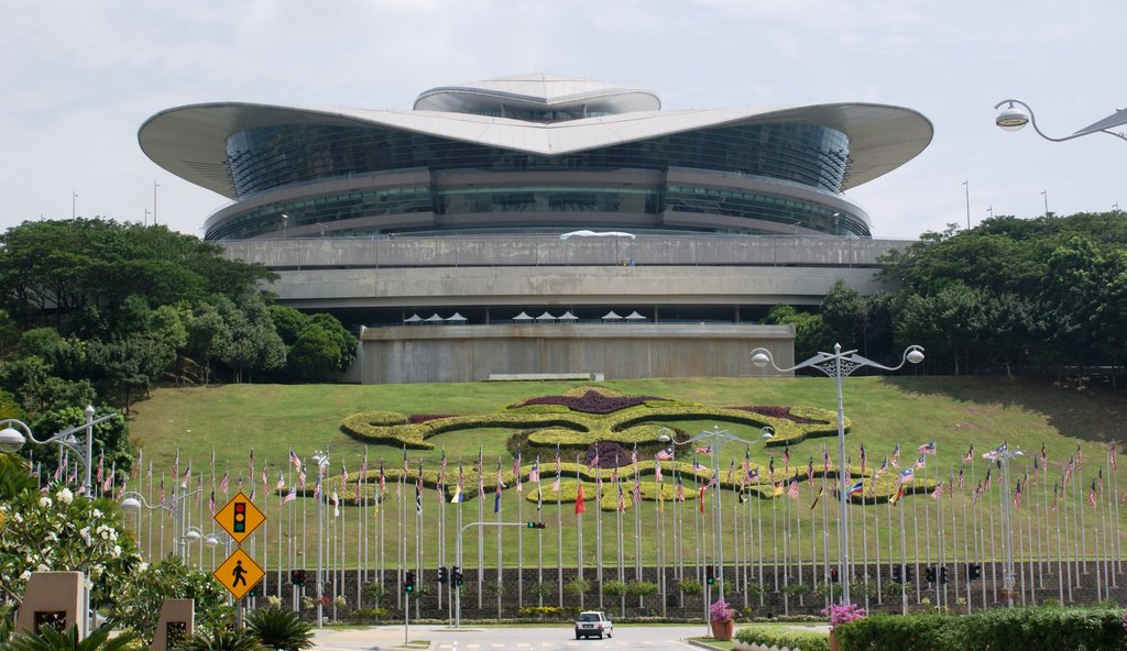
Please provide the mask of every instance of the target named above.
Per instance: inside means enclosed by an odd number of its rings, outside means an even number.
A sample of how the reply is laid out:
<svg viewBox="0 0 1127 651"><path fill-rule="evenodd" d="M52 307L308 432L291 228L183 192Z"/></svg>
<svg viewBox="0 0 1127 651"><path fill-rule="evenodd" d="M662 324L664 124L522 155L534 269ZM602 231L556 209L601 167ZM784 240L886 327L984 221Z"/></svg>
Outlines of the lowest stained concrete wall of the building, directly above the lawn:
<svg viewBox="0 0 1127 651"><path fill-rule="evenodd" d="M793 344L789 326L401 326L364 330L358 373L365 384L474 382L500 373L739 377L752 372L753 348L767 347L790 366Z"/></svg>

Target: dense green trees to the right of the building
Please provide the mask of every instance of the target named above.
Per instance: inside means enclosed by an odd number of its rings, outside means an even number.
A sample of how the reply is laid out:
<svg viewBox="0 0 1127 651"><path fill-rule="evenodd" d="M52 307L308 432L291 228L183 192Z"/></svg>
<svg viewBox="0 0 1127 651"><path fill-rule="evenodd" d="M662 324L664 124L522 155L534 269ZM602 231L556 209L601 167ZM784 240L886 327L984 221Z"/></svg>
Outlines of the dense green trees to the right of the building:
<svg viewBox="0 0 1127 651"><path fill-rule="evenodd" d="M793 323L796 358L834 342L886 363L905 346L928 371L1118 368L1127 346L1127 214L997 216L950 225L881 260L886 292L862 296L843 282L819 310L777 306L766 321ZM1111 374L1112 378L1115 374Z"/></svg>

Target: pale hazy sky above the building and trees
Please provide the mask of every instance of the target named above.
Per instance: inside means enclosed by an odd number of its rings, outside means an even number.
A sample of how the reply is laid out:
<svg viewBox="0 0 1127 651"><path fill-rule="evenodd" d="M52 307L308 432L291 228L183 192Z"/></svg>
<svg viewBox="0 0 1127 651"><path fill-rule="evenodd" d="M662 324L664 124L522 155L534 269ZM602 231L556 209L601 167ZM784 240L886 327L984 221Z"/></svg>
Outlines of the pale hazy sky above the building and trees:
<svg viewBox="0 0 1127 651"><path fill-rule="evenodd" d="M202 235L229 199L137 145L168 108L409 109L531 72L648 88L666 109L915 109L931 145L848 193L876 238L1127 209L1127 141L1008 133L993 108L1021 99L1063 136L1127 106L1121 0L0 0L0 16L2 230L156 213Z"/></svg>

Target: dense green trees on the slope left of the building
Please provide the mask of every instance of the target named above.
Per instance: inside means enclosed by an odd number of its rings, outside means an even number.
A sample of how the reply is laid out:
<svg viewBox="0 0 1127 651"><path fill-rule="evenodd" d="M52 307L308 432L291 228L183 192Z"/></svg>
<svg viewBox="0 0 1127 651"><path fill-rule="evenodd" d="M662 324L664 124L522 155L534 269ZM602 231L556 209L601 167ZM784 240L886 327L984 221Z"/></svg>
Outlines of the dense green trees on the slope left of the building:
<svg viewBox="0 0 1127 651"><path fill-rule="evenodd" d="M331 380L356 338L329 314L275 304L263 289L275 278L166 226L76 219L8 230L0 417L50 432L87 404L128 413L157 383ZM117 439L110 456L127 466L127 435Z"/></svg>

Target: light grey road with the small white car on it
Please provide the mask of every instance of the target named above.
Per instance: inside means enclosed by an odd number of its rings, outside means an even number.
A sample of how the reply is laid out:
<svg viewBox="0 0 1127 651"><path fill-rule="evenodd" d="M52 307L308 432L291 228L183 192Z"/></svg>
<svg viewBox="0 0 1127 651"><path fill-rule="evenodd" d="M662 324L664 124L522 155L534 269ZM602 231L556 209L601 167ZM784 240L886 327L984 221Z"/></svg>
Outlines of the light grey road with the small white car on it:
<svg viewBox="0 0 1127 651"><path fill-rule="evenodd" d="M684 651L691 646L689 636L706 635L703 624L698 626L615 626L614 636L606 640L575 639L571 626L553 627L488 627L421 625L411 626L409 648L429 651L614 651L618 649L665 649ZM314 633L319 651L371 651L405 646L402 626L371 626L366 628L322 628ZM424 644L423 641L429 642ZM417 643L417 644L416 644Z"/></svg>

